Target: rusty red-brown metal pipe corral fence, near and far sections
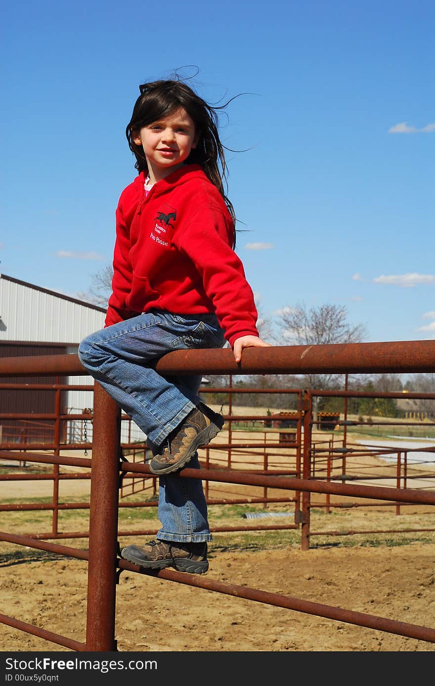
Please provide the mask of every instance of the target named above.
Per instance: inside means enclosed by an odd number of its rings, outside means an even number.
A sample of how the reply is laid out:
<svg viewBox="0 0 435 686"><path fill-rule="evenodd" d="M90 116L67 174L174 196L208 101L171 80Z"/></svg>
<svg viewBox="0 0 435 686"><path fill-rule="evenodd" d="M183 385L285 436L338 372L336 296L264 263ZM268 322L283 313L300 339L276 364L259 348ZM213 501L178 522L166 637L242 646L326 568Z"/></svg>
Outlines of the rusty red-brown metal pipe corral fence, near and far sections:
<svg viewBox="0 0 435 686"><path fill-rule="evenodd" d="M162 357L156 368L158 372L166 375L189 373L209 375L338 373L346 375L348 373L366 374L374 372L434 372L435 341L247 348L243 352L243 362L238 366L234 362L232 351L228 349L177 351ZM0 377L40 376L42 374L73 376L82 375L83 371L77 355L17 357L0 360ZM61 389L59 388L58 391L60 393ZM355 449L351 445L346 445L345 441L341 447L313 444L312 431L315 424L312 414L313 392L303 391L298 393L296 434L292 436L290 441L282 440L279 442L279 447L290 446L295 448L297 457L294 470L289 470L288 467L287 469L270 469L270 464L267 460L264 460L264 469L234 469L234 463L236 463L236 460L234 460L234 444L229 440L227 445L221 446L221 449L226 449L229 455L225 467L221 464L216 466L214 464L210 465L210 456L207 456L204 469L184 469L182 475L199 478L206 482L206 486L210 482L216 482L259 486L265 489L265 494L270 489L294 492L296 494L293 498L295 502L295 524L284 526L288 528L300 527L301 547L303 550L308 550L310 547L310 535L318 533L310 532L312 494L323 494L327 498L334 495L346 498L377 499L386 504L393 504L396 508L409 504L428 507L435 505L435 492L433 490L408 487L409 477L407 472L403 473L402 471L403 461L401 459L399 460L400 469L397 468L397 474L395 475L395 486L362 484L360 476L358 476L358 483L353 483L352 475L346 473L346 465L345 462L343 463L343 460L351 453L355 454L356 450L360 451L361 454L364 451L360 447ZM346 394L346 391L344 393ZM60 400L57 403L60 403ZM51 419L53 419L53 416ZM267 419L268 417L266 417ZM50 455L38 453L38 449L46 450L47 444L33 444L31 459L32 462L53 464L53 474L56 477L54 478L55 484L58 484L59 480L66 476L59 474L60 465L71 464L88 470L86 477L90 477L89 531L77 534L77 536L88 535L88 550L83 551L74 547L48 542L48 539L60 538L62 535L68 538L73 537L71 532L68 534L60 534L58 532L57 519L54 515L63 506L58 502L57 493L55 494L53 505L49 505L49 509L53 509L53 532L51 534L48 533L38 538L32 535L21 536L0 532L0 540L35 549L47 550L62 556L79 558L88 562L86 641L79 642L69 637L60 636L45 628L27 624L18 618L6 615L0 615L0 622L42 637L47 641L58 643L71 650L113 651L116 650L114 627L117 577L123 569L147 573L147 571L119 557L118 536L121 534L118 530L119 489L127 476L131 478L140 477L141 479L149 477L149 466L143 457L142 462L127 462L125 460L120 442L121 412L116 403L110 399L98 383L95 384L94 392L92 443L80 443L77 446L74 444L68 445L69 449L74 449L75 447L83 449L84 445L85 449L89 447L92 449L92 460L86 457L65 457L60 454L62 447L60 441L61 423L64 421L64 417L60 414L60 405L55 410L54 421L54 440L53 445L51 445L53 453ZM234 418L229 417L229 427L231 427L232 421L234 421ZM231 436L230 430L229 436ZM301 440L302 436L303 441ZM21 455L17 457L16 445L9 445L4 441L1 447L0 458L3 458L3 460L23 460L23 456L26 454L25 451L21 451ZM237 450L243 448L251 451L253 447L258 448L259 445L252 442L246 445L238 444ZM264 447L264 441L260 443L260 447ZM266 446L266 448L269 450L269 446ZM380 449L380 453L382 453L382 449ZM264 454L266 455L267 451ZM334 459L337 455L342 460L339 478L337 478L333 470ZM320 477L319 460L321 462ZM53 475L45 476L53 479ZM79 475L74 475L74 477L79 477ZM56 490L56 486L54 490ZM290 501L292 498L288 497L287 500ZM273 500L273 498L269 499L267 495L264 495L264 504L268 501L276 500ZM77 504L72 505L75 506ZM336 506L336 504L327 501L326 506L332 507ZM3 506L2 509L4 508L8 508L8 506ZM274 526L273 528L279 527ZM208 589L209 591L225 593L239 598L246 598L256 602L329 619L337 619L341 622L348 622L358 626L365 626L435 643L434 628L407 624L393 619L386 619L385 617L353 612L344 608L308 602L259 589L218 582L212 578L201 578L198 575L180 573L171 569L159 571L157 575L153 573L153 576Z"/></svg>

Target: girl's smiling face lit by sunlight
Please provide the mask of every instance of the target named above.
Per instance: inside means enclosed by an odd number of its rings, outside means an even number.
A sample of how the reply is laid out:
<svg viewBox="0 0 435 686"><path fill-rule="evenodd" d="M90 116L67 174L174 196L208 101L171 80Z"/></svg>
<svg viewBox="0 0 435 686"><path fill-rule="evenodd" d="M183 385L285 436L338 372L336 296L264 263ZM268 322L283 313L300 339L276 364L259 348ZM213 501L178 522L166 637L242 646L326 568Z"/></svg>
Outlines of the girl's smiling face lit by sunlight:
<svg viewBox="0 0 435 686"><path fill-rule="evenodd" d="M133 137L145 152L151 183L182 167L198 139L195 123L184 108L147 124Z"/></svg>

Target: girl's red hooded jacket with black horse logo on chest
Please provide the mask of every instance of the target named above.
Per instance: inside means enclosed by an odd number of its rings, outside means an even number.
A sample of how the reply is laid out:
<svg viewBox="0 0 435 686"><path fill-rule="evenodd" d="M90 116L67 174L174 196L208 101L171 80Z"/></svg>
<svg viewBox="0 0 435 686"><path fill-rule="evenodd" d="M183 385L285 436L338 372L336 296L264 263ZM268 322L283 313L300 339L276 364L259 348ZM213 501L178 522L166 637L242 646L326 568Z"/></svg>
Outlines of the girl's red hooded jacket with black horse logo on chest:
<svg viewBox="0 0 435 686"><path fill-rule="evenodd" d="M215 312L230 345L258 336L258 313L240 259L234 222L199 165L158 181L145 197L139 174L116 209L112 295L105 326L160 309Z"/></svg>

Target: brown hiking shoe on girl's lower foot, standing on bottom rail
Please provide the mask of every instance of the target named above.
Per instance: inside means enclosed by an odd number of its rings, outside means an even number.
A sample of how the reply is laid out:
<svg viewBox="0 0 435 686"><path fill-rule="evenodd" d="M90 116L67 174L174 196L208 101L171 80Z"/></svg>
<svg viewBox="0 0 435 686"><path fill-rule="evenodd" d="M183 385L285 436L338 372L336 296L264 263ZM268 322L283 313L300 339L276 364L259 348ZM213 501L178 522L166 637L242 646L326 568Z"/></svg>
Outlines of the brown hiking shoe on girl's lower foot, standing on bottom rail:
<svg viewBox="0 0 435 686"><path fill-rule="evenodd" d="M149 541L145 545L127 545L121 557L146 569L174 567L177 571L203 574L208 570L207 543Z"/></svg>

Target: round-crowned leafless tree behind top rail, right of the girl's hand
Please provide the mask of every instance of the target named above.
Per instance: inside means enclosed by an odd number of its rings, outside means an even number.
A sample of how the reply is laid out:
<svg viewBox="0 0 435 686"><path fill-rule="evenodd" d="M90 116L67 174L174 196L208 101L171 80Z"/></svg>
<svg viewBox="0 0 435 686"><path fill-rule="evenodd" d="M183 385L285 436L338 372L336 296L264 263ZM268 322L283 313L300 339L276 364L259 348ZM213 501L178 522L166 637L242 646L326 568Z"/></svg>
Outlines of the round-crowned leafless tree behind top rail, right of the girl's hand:
<svg viewBox="0 0 435 686"><path fill-rule="evenodd" d="M359 343L366 337L363 324L353 326L347 321L347 309L341 305L325 303L309 309L303 303L285 307L278 318L282 345L323 345ZM340 375L306 374L306 388L337 388ZM314 399L314 414L317 402Z"/></svg>

